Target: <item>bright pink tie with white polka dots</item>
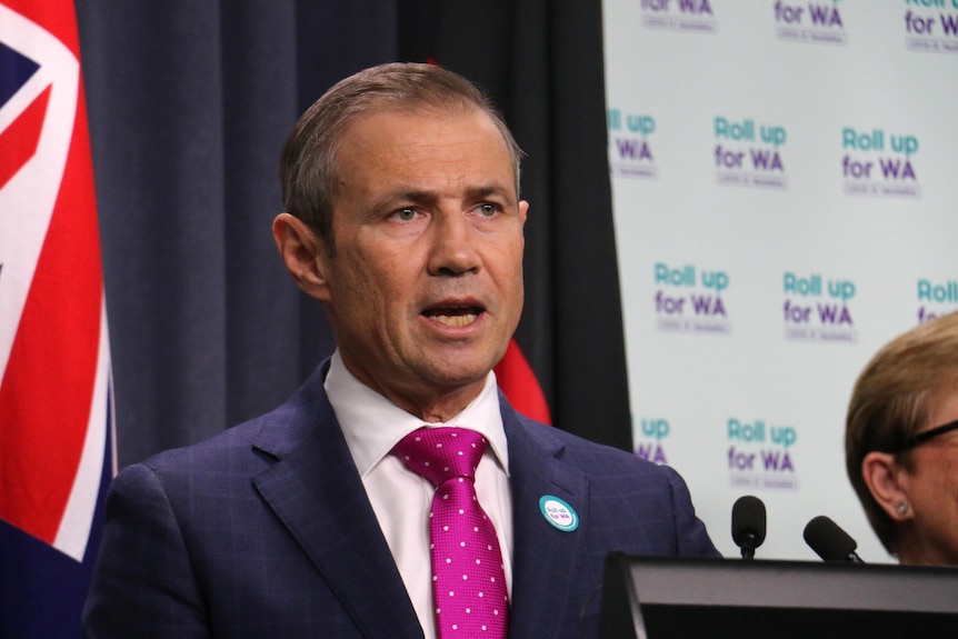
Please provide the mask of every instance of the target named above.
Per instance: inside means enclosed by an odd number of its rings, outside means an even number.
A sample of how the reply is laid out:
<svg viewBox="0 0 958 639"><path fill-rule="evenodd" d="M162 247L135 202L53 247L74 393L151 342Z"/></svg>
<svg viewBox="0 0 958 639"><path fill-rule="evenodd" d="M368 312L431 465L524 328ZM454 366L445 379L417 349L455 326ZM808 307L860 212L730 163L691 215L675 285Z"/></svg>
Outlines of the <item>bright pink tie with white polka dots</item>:
<svg viewBox="0 0 958 639"><path fill-rule="evenodd" d="M421 428L393 449L436 486L429 513L432 597L440 639L506 637L509 596L496 529L476 497L486 439L462 428Z"/></svg>

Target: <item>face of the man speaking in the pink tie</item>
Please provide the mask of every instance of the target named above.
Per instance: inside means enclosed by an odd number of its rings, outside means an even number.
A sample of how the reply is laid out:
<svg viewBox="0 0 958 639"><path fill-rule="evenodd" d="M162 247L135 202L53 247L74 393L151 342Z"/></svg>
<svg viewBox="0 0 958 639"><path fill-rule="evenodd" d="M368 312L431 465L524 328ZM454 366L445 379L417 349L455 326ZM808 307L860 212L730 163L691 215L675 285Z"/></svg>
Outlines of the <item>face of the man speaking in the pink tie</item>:
<svg viewBox="0 0 958 639"><path fill-rule="evenodd" d="M478 110L382 112L350 124L337 158L336 251L321 261L343 361L410 412L451 417L522 310L528 203L506 142Z"/></svg>

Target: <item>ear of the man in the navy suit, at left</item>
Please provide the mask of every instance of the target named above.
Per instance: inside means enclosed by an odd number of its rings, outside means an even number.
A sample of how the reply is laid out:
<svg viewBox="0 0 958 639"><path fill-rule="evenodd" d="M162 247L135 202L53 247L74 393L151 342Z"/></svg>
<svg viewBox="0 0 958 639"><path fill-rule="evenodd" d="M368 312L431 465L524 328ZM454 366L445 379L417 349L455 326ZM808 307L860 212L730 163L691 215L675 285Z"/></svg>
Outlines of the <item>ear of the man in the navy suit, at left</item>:
<svg viewBox="0 0 958 639"><path fill-rule="evenodd" d="M297 286L310 297L328 300L326 247L309 224L296 216L280 213L272 221L272 237Z"/></svg>

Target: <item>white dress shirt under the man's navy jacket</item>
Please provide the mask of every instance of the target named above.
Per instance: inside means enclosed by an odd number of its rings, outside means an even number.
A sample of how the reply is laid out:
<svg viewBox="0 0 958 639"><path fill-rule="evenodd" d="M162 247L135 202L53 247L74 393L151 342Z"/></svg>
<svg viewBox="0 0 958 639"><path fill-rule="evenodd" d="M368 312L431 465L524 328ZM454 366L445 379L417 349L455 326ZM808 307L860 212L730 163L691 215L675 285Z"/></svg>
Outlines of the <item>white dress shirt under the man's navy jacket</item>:
<svg viewBox="0 0 958 639"><path fill-rule="evenodd" d="M441 423L422 421L360 382L346 369L339 351L332 356L325 388L426 639L436 637L429 558L429 509L435 488L390 455L392 447L413 430L458 426L482 433L489 442L476 470L476 493L496 527L511 597L512 498L496 373L489 372L479 396L462 412Z"/></svg>

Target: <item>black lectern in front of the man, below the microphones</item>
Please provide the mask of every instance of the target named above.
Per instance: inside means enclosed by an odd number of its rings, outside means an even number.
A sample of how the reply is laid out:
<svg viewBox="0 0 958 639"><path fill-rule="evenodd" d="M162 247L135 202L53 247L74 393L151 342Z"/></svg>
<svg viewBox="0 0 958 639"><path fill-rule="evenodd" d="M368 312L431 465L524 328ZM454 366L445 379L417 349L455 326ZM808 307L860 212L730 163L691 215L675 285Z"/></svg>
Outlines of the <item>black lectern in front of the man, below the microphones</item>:
<svg viewBox="0 0 958 639"><path fill-rule="evenodd" d="M958 638L958 568L606 559L601 639Z"/></svg>

